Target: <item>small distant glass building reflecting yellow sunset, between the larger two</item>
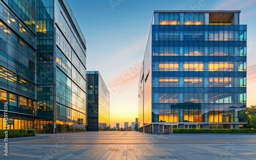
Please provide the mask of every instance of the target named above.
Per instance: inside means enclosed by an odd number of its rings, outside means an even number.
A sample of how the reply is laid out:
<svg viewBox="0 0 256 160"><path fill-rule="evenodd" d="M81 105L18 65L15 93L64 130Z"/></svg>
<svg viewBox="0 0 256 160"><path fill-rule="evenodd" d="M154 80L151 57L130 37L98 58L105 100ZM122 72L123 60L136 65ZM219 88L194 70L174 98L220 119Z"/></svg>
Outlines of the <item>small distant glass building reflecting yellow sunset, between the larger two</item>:
<svg viewBox="0 0 256 160"><path fill-rule="evenodd" d="M110 128L110 92L98 71L87 72L87 130Z"/></svg>

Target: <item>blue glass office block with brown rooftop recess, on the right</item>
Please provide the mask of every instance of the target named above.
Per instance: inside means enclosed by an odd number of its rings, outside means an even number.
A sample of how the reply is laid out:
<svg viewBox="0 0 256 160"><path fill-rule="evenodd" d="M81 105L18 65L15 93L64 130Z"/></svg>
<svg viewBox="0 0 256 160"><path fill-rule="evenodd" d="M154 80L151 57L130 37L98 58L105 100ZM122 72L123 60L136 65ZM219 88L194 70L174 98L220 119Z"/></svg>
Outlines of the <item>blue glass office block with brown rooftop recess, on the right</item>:
<svg viewBox="0 0 256 160"><path fill-rule="evenodd" d="M240 11L155 11L139 79L141 132L246 124Z"/></svg>

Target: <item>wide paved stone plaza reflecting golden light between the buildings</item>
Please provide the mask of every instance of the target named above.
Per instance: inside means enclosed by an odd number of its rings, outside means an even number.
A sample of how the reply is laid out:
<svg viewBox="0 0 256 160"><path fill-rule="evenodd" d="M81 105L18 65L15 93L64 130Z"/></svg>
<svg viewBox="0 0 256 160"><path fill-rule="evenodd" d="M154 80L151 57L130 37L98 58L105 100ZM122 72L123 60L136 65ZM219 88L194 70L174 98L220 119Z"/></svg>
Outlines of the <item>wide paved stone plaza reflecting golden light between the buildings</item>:
<svg viewBox="0 0 256 160"><path fill-rule="evenodd" d="M49 136L10 142L8 158L3 151L0 158L256 159L255 134L150 135L135 131L88 131Z"/></svg>

